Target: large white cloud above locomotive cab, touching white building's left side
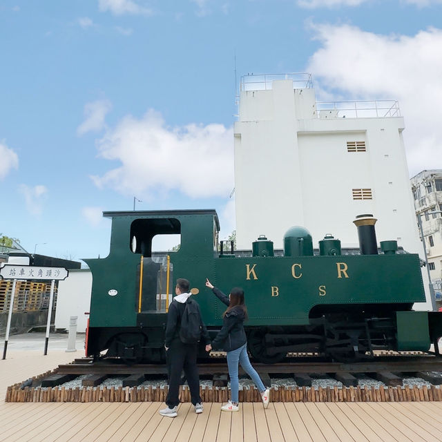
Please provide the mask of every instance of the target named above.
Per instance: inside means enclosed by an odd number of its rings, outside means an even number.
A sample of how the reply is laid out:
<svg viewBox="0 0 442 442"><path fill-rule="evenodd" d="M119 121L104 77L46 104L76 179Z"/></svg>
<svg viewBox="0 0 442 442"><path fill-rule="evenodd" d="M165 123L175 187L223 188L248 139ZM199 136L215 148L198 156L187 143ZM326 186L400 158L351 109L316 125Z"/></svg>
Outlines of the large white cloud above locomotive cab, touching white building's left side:
<svg viewBox="0 0 442 442"><path fill-rule="evenodd" d="M92 177L95 184L124 195L145 200L154 191L179 190L209 198L233 189L233 131L222 124L169 128L151 110L141 119L122 119L98 146L103 158L121 166Z"/></svg>

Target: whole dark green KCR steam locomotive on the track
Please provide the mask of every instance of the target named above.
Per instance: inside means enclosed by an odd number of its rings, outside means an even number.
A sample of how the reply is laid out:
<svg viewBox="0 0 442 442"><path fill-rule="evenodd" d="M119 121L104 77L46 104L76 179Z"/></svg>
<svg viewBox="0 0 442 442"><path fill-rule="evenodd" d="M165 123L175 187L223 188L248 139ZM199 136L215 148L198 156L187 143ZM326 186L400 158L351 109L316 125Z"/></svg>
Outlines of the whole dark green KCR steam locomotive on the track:
<svg viewBox="0 0 442 442"><path fill-rule="evenodd" d="M264 236L249 253L224 253L214 210L116 211L107 258L85 260L93 274L86 355L125 361L164 360L164 327L177 278L187 278L214 336L224 305L204 287L242 287L251 356L264 363L288 352L315 352L337 361L369 359L378 349L427 352L442 336L441 313L413 311L425 302L419 256L398 253L396 241L378 253L372 215L360 215L361 254L343 255L325 236L314 255L307 229L291 227L277 256ZM155 258L157 235L180 235L180 247ZM356 235L356 232L355 232ZM222 243L221 243L222 244ZM437 346L435 346L437 350Z"/></svg>

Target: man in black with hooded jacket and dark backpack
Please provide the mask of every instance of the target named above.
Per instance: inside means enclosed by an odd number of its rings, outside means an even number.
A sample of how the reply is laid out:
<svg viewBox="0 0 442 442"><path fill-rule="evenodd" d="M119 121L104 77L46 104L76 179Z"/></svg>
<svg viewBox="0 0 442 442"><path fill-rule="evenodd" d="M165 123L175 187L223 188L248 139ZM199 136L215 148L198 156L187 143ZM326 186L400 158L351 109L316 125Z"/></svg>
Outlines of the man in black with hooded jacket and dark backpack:
<svg viewBox="0 0 442 442"><path fill-rule="evenodd" d="M167 407L160 410L162 416L177 416L182 369L184 369L187 383L189 383L195 413L202 413L203 410L196 359L200 340L206 344L207 351L210 338L206 326L202 322L200 306L198 302L191 299L189 287L188 280L177 279L176 296L173 298L167 314L164 347L169 364L169 393L166 398Z"/></svg>

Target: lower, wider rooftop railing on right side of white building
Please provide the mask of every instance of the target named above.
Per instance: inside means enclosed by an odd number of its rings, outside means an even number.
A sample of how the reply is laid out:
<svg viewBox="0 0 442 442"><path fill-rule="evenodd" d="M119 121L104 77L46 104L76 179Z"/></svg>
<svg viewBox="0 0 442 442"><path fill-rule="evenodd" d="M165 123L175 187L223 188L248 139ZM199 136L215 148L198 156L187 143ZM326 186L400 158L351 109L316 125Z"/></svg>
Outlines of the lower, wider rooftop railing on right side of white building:
<svg viewBox="0 0 442 442"><path fill-rule="evenodd" d="M401 117L396 100L374 100L358 102L316 102L318 118L370 118Z"/></svg>

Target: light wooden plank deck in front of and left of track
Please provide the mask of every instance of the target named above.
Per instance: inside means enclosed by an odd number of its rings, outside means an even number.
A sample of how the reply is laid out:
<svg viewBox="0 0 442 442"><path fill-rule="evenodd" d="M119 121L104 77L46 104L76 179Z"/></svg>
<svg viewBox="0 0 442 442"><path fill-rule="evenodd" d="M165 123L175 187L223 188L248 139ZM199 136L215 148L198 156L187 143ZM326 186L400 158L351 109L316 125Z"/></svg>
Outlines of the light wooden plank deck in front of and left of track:
<svg viewBox="0 0 442 442"><path fill-rule="evenodd" d="M6 387L71 361L79 352L8 352ZM434 442L442 441L442 403L243 403L238 413L189 403L171 419L162 403L0 403L0 441Z"/></svg>

